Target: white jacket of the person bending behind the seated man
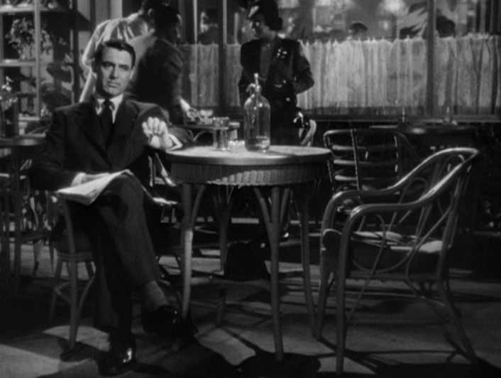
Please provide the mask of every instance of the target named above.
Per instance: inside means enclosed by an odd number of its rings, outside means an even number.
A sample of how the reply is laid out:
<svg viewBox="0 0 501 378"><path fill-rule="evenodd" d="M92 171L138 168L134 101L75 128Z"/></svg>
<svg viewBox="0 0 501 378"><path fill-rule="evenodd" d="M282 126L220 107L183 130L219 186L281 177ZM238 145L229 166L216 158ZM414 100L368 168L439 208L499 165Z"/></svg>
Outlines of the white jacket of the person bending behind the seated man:
<svg viewBox="0 0 501 378"><path fill-rule="evenodd" d="M130 41L137 36L152 33L155 9L165 2L166 0L142 0L138 11L127 17L111 18L99 23L82 54L82 64L89 69L89 74L80 95L80 101L89 99L94 92L96 81L92 75L92 60L94 60L94 54L99 44L109 39Z"/></svg>

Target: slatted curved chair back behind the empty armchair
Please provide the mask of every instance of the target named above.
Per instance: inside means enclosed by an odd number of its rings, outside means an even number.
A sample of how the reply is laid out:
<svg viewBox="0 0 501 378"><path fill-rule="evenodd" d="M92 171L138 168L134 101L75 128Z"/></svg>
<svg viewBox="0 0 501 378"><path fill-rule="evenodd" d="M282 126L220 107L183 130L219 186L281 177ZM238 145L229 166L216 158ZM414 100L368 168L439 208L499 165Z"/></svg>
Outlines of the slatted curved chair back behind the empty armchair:
<svg viewBox="0 0 501 378"><path fill-rule="evenodd" d="M384 188L417 161L409 140L394 129L336 129L324 133L332 193Z"/></svg>

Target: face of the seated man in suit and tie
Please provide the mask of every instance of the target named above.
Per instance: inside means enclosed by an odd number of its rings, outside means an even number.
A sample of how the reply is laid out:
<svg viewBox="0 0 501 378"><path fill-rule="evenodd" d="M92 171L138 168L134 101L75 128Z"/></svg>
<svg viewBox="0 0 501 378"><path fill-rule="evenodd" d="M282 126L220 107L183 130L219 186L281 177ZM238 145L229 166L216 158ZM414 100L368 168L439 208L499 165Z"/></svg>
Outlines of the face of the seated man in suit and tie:
<svg viewBox="0 0 501 378"><path fill-rule="evenodd" d="M96 62L92 70L97 77L96 91L110 98L125 92L133 74L132 57L126 50L104 48L101 62Z"/></svg>

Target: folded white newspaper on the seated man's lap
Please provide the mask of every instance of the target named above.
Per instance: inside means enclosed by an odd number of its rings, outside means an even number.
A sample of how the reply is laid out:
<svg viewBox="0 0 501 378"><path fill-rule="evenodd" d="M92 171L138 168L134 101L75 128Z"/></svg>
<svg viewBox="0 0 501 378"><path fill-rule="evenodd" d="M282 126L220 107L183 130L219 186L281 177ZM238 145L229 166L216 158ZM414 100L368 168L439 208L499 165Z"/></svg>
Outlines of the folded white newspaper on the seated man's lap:
<svg viewBox="0 0 501 378"><path fill-rule="evenodd" d="M94 200L96 200L96 198L99 197L99 195L103 192L106 186L111 183L111 181L113 181L119 175L123 174L133 175L133 173L128 169L123 169L122 171L109 173L109 175L105 175L104 177L100 177L92 181L87 181L87 183L62 188L60 190L57 190L56 193L67 200L80 202L84 205L90 205L92 202L94 202Z"/></svg>

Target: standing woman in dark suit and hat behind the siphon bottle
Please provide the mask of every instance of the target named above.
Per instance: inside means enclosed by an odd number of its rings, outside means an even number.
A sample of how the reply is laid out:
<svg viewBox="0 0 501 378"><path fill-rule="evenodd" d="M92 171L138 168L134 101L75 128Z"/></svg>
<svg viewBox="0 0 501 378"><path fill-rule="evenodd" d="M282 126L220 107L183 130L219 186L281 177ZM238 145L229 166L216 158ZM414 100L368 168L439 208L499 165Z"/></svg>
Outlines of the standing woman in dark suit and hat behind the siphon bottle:
<svg viewBox="0 0 501 378"><path fill-rule="evenodd" d="M280 38L282 18L273 0L256 1L248 18L257 39L241 47L242 75L238 81L241 104L249 96L248 88L258 72L262 94L270 102L271 143L299 144L294 127L297 94L313 87L309 62L299 41Z"/></svg>

